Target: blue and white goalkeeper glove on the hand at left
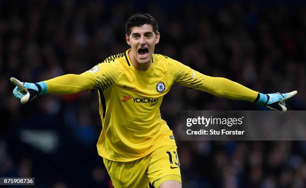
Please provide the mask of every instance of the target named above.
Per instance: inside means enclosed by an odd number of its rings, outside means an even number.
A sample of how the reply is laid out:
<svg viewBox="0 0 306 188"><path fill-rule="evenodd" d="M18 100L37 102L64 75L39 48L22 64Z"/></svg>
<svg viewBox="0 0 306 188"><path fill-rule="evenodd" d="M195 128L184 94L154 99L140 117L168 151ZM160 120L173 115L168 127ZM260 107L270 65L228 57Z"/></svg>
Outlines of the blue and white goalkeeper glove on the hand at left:
<svg viewBox="0 0 306 188"><path fill-rule="evenodd" d="M16 98L20 99L22 104L30 101L37 95L46 94L48 86L45 82L38 83L21 82L18 79L11 77L10 81L16 85L13 94Z"/></svg>

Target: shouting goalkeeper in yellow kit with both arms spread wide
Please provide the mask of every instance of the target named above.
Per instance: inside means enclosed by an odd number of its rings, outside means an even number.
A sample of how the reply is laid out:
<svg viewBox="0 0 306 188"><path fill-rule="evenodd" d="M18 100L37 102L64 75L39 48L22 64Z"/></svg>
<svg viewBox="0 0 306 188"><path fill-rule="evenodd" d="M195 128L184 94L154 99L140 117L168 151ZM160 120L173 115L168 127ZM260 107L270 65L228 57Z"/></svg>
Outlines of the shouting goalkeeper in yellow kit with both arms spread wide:
<svg viewBox="0 0 306 188"><path fill-rule="evenodd" d="M159 111L163 96L173 84L279 111L286 111L285 100L296 94L296 91L259 93L154 54L160 33L155 19L147 13L132 15L125 32L130 49L109 56L81 74L66 74L37 83L11 78L16 85L13 94L21 103L47 93L97 90L103 125L97 151L115 188L181 187L174 136Z"/></svg>

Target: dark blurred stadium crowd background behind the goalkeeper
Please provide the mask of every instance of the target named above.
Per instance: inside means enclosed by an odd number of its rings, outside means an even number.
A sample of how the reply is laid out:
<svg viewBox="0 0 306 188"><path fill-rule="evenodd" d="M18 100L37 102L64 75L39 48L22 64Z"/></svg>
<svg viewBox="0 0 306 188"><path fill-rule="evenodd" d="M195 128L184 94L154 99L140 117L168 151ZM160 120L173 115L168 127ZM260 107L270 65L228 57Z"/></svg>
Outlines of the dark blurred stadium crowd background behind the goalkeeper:
<svg viewBox="0 0 306 188"><path fill-rule="evenodd" d="M21 105L9 77L35 82L81 73L125 51L135 12L159 24L156 53L265 93L298 90L306 107L306 7L301 1L0 0L0 177L35 187L110 187L95 143L96 92ZM176 135L184 187L305 187L305 141L180 141L180 110L263 109L173 86L162 117ZM11 186L13 187L13 186Z"/></svg>

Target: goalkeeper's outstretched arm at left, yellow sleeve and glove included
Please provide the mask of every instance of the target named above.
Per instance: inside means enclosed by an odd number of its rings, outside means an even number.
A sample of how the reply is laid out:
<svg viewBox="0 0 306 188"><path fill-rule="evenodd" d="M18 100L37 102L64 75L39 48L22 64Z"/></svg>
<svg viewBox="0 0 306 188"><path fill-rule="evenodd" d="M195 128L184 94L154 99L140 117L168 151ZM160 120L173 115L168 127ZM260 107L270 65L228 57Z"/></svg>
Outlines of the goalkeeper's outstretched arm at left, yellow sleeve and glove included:
<svg viewBox="0 0 306 188"><path fill-rule="evenodd" d="M99 63L81 74L65 74L37 83L21 82L16 78L10 81L16 85L13 94L21 103L46 93L73 94L84 89L100 88L102 91L113 85L120 75L117 63Z"/></svg>

